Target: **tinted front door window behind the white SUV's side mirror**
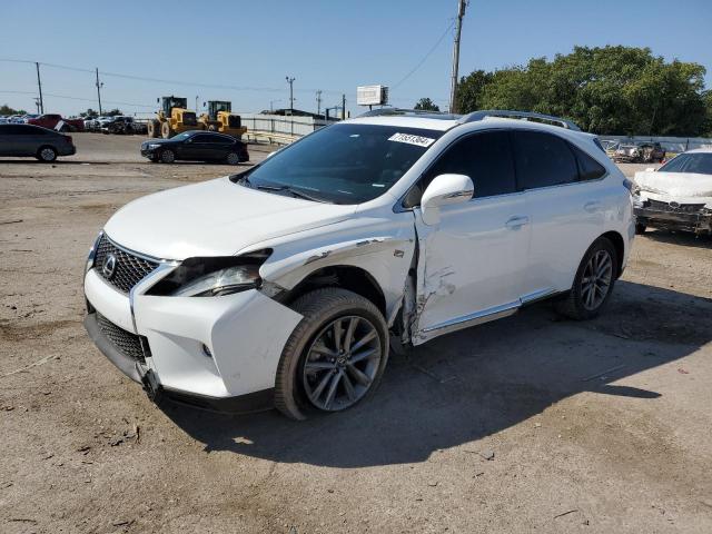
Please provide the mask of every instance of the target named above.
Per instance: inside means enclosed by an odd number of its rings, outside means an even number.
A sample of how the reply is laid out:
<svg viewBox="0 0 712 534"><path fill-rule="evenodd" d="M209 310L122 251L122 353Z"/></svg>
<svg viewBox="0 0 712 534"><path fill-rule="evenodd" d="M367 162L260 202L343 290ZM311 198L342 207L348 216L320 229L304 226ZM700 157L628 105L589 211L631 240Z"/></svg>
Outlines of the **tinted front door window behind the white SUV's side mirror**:
<svg viewBox="0 0 712 534"><path fill-rule="evenodd" d="M433 178L445 174L472 178L476 198L514 192L516 180L508 134L491 131L456 141L428 170L423 190Z"/></svg>

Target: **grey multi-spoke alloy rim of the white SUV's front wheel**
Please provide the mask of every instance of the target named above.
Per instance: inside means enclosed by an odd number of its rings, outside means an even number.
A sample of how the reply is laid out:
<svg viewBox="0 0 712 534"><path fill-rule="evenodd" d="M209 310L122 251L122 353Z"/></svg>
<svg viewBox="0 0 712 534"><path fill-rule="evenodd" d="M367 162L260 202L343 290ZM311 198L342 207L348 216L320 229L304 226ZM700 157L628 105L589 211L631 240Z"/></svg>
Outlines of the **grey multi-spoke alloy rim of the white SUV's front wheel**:
<svg viewBox="0 0 712 534"><path fill-rule="evenodd" d="M359 316L333 320L306 354L303 384L309 402L327 412L353 406L370 389L380 358L378 330L369 320Z"/></svg>

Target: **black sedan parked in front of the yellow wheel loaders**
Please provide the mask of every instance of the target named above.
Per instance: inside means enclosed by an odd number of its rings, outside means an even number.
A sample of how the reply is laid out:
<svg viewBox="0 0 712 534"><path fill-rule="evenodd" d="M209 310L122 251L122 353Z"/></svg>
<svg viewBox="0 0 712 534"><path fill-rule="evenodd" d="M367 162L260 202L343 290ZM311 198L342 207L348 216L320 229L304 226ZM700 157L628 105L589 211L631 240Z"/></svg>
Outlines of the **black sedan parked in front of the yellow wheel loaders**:
<svg viewBox="0 0 712 534"><path fill-rule="evenodd" d="M249 161L245 144L214 131L191 130L170 139L150 139L141 144L141 156L151 161L219 161L237 165Z"/></svg>

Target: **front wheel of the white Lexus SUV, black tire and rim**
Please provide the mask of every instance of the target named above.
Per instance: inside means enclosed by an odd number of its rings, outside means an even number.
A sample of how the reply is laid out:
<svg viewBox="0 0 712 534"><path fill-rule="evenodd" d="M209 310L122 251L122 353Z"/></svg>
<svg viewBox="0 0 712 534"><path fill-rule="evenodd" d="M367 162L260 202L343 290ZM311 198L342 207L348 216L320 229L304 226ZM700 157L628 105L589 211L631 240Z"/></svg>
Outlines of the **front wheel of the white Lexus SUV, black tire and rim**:
<svg viewBox="0 0 712 534"><path fill-rule="evenodd" d="M304 318L289 336L279 359L275 407L289 418L306 419L310 414L342 412L373 395L388 362L388 328L378 308L360 295L334 287L310 291L291 308ZM352 328L354 319L356 326ZM338 332L343 347L352 344L347 339L353 339L353 346L359 345L363 350L356 349L359 352L353 355L350 349L337 353L342 345L334 340L336 322L342 325ZM354 333L350 337L349 332ZM322 343L329 335L333 348ZM362 343L372 335L372 339ZM319 352L315 350L317 346ZM370 354L365 357L367 353ZM358 356L362 358L349 363ZM316 370L307 372L307 362ZM356 365L360 366L356 367L358 373L354 370Z"/></svg>

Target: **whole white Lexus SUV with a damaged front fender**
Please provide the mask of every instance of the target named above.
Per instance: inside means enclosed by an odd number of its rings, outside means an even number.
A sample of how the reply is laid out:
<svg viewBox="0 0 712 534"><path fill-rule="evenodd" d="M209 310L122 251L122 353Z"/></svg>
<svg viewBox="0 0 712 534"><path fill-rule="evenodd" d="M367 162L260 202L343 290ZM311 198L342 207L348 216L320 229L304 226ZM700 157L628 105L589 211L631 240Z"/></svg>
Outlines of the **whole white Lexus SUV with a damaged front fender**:
<svg viewBox="0 0 712 534"><path fill-rule="evenodd" d="M152 398L304 418L373 393L392 344L547 297L594 317L629 182L574 125L494 115L366 113L130 202L87 261L90 337Z"/></svg>

